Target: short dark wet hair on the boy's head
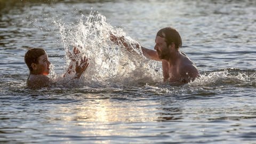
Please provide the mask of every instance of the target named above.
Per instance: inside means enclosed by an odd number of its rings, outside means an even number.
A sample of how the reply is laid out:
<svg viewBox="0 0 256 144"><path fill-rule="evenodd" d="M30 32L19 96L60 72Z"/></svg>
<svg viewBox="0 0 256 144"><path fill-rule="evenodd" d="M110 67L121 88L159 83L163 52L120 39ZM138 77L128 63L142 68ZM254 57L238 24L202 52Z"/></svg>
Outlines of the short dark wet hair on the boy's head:
<svg viewBox="0 0 256 144"><path fill-rule="evenodd" d="M38 58L44 54L46 54L46 52L42 48L32 48L26 52L24 59L30 71L33 70L31 66L32 63L38 63Z"/></svg>

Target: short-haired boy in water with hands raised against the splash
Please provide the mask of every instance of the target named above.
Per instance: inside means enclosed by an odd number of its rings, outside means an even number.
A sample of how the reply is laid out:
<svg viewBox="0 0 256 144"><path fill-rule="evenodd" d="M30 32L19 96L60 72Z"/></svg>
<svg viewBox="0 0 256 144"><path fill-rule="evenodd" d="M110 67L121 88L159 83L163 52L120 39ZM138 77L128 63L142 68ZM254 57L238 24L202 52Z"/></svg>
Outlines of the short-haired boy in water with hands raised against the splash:
<svg viewBox="0 0 256 144"><path fill-rule="evenodd" d="M75 57L78 57L80 53L76 47L74 47L73 54L69 52L69 57L72 61L76 61ZM53 84L52 79L50 79L47 75L50 73L50 65L51 62L48 60L48 55L44 49L41 48L33 48L26 52L25 54L25 62L29 69L29 76L27 79L27 87L30 89L37 89L40 87L47 87ZM74 78L80 78L84 73L86 68L89 66L88 59L85 57L81 57L81 61L76 61L75 70L73 70L73 65L70 66L66 72L66 74L70 74L71 71L75 71ZM66 76L63 75L63 77Z"/></svg>

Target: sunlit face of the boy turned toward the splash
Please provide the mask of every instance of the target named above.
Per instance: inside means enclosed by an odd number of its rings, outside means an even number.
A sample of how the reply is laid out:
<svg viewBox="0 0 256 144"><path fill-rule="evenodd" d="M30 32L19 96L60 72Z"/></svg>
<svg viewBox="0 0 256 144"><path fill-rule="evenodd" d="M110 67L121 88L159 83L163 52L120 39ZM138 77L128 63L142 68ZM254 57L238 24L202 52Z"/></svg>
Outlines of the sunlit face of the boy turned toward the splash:
<svg viewBox="0 0 256 144"><path fill-rule="evenodd" d="M49 75L50 73L50 64L51 62L48 60L48 55L45 53L38 58L38 63L33 63L36 74L41 75Z"/></svg>

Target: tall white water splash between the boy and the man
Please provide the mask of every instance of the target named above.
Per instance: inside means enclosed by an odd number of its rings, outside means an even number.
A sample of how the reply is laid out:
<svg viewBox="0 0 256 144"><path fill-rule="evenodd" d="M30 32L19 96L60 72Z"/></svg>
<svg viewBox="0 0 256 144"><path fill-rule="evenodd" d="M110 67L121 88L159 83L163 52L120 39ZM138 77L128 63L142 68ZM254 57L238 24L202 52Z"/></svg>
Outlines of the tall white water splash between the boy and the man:
<svg viewBox="0 0 256 144"><path fill-rule="evenodd" d="M133 85L162 82L158 62L143 57L141 50L134 49L137 54L133 54L110 41L110 33L115 33L124 36L128 43L134 43L134 39L126 36L122 29L109 25L103 15L91 12L88 17L82 15L72 25L56 21L55 25L60 28L65 47L65 68L70 62L67 53L73 51L74 46L78 47L81 55L89 58L90 66L82 77L84 83Z"/></svg>

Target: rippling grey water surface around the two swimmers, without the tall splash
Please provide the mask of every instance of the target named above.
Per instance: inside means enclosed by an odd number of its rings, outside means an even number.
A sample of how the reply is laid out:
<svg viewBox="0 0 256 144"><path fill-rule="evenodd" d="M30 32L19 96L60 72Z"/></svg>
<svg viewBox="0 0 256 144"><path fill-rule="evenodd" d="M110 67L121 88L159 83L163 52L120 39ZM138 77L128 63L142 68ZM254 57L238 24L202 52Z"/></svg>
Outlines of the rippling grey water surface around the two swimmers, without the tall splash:
<svg viewBox="0 0 256 144"><path fill-rule="evenodd" d="M0 0L0 8L1 143L256 143L255 1ZM176 28L202 77L175 87L86 85L86 75L71 87L25 89L28 48L44 47L60 75L70 38L61 28L81 28L92 10L146 47L160 28Z"/></svg>

